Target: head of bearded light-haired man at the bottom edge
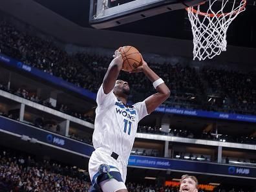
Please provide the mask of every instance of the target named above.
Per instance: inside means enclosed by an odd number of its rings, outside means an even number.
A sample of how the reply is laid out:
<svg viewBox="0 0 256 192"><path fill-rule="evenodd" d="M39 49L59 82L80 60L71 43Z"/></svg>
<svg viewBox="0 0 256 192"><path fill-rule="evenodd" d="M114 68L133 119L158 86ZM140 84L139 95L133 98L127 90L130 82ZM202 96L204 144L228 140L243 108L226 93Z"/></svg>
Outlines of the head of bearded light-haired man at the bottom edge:
<svg viewBox="0 0 256 192"><path fill-rule="evenodd" d="M198 181L195 176L182 175L180 179L180 192L198 192Z"/></svg>

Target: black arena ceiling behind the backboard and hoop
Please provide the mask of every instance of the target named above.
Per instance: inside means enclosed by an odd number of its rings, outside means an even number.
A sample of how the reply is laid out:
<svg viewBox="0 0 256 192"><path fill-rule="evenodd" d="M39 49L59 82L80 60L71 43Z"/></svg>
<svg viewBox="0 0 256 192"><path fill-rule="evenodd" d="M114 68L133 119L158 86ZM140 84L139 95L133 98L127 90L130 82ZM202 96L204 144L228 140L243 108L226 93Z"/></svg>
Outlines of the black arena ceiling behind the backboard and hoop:
<svg viewBox="0 0 256 192"><path fill-rule="evenodd" d="M89 25L89 0L34 0L81 27ZM228 45L256 47L256 3L249 0L246 11L231 23ZM175 10L107 30L147 34L151 36L192 39L191 25L186 10Z"/></svg>

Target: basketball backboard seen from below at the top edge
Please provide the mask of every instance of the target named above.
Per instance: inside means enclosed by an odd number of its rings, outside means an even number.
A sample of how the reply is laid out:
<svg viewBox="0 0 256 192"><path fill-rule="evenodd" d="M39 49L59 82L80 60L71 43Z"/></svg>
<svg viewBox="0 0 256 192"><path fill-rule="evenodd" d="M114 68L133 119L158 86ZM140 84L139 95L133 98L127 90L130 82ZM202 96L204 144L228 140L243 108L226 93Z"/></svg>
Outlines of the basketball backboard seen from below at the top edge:
<svg viewBox="0 0 256 192"><path fill-rule="evenodd" d="M110 28L206 0L91 0L89 22L94 28Z"/></svg>

